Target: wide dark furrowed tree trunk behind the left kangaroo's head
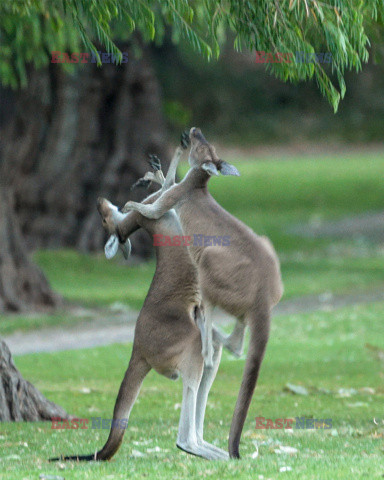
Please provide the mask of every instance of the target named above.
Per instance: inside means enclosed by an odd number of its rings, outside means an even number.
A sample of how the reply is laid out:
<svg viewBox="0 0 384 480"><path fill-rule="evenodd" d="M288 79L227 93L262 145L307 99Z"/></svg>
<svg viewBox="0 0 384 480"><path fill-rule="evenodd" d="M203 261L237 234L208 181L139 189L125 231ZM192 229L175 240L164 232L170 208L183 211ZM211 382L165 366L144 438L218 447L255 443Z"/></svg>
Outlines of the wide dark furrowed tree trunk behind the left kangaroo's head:
<svg viewBox="0 0 384 480"><path fill-rule="evenodd" d="M146 192L130 186L164 159L158 83L144 49L120 66L88 63L73 75L59 64L32 72L2 132L3 161L14 171L15 209L28 247L101 250L96 199L124 204ZM147 256L146 236L133 252Z"/></svg>

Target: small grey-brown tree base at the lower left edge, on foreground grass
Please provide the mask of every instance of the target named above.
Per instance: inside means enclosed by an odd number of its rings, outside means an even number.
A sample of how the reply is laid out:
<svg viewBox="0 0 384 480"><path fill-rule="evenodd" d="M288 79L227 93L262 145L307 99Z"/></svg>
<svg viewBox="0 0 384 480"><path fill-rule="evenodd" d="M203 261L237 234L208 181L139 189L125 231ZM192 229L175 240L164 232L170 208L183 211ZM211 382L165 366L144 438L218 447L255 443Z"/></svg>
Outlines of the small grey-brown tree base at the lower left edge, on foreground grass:
<svg viewBox="0 0 384 480"><path fill-rule="evenodd" d="M54 417L69 416L22 377L6 343L0 338L0 421L38 421Z"/></svg>

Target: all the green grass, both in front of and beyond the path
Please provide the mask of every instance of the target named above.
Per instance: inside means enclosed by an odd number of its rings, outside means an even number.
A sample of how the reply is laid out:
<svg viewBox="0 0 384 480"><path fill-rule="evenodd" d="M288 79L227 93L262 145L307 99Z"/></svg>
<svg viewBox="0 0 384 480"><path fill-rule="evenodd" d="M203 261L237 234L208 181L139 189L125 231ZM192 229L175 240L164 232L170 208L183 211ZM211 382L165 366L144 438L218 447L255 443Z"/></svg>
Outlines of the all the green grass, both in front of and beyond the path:
<svg viewBox="0 0 384 480"><path fill-rule="evenodd" d="M282 260L286 298L323 292L382 288L383 250L369 239L303 239L287 233L292 224L337 219L382 210L384 159L357 156L235 162L241 178L213 179L211 191L229 211L258 233L267 234ZM52 285L75 303L139 308L154 264L126 267L102 252L39 252L36 260ZM240 462L206 462L175 447L180 382L151 373L144 382L125 441L111 463L49 464L47 458L90 453L106 430L52 430L47 423L0 425L0 478L32 479L50 474L66 479L381 478L384 430L383 363L365 347L383 349L384 304L275 319L257 393L241 444ZM3 318L0 333L15 328L73 323L62 312L45 317ZM2 330L1 330L2 329ZM27 355L16 358L23 375L50 399L79 417L110 418L130 345ZM382 356L382 354L381 354ZM206 439L226 447L243 361L224 354L207 409ZM291 383L308 395L285 390ZM344 389L344 390L340 390ZM372 390L373 389L373 390ZM330 430L257 430L255 417L305 416L332 419ZM258 458L252 458L255 442ZM297 449L278 454L279 445ZM151 449L157 448L157 451ZM143 456L138 456L139 453ZM280 472L283 467L291 471ZM63 469L61 469L63 468Z"/></svg>

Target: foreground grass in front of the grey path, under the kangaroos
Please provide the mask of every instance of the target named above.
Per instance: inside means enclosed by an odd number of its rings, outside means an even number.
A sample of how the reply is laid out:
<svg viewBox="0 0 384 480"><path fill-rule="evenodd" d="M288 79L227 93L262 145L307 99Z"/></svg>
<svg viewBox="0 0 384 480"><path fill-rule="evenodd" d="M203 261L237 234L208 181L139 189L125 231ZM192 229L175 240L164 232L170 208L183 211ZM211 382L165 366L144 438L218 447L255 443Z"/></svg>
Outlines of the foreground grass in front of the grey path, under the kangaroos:
<svg viewBox="0 0 384 480"><path fill-rule="evenodd" d="M106 464L67 463L60 470L52 455L90 453L102 446L106 430L52 430L48 423L0 425L0 478L282 478L334 480L381 478L383 428L383 364L366 343L384 348L384 304L348 307L333 312L277 317L241 444L241 461L206 462L175 447L181 401L180 382L151 373L132 411L123 445ZM51 400L82 417L110 418L131 346L26 355L16 365ZM206 417L206 439L226 448L229 424L244 362L226 353L213 385ZM287 382L305 386L309 395L285 391ZM375 389L366 393L364 387ZM90 389L83 390L84 388ZM356 389L351 397L338 390ZM332 430L256 430L255 417L296 416L332 419ZM27 445L25 445L25 442ZM148 443L147 443L148 442ZM253 442L259 457L252 459ZM278 455L278 445L298 449ZM148 453L158 446L160 452ZM133 456L133 450L144 457ZM291 472L279 469L290 466Z"/></svg>

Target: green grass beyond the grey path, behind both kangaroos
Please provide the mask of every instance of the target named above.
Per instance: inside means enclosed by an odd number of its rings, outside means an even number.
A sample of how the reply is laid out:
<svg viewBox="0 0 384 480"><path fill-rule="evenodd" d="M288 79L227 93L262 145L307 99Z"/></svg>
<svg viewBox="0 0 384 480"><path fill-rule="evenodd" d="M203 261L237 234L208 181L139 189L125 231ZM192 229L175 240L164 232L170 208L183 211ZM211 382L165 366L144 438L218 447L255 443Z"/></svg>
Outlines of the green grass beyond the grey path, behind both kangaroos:
<svg viewBox="0 0 384 480"><path fill-rule="evenodd" d="M369 238L308 239L288 232L299 223L382 210L384 157L351 154L229 160L236 164L241 177L213 178L210 190L224 208L255 232L271 238L281 259L284 298L362 292L384 286L383 249ZM186 169L183 164L182 174ZM102 252L90 256L74 251L41 251L35 259L55 290L68 301L87 306L122 302L140 309L155 269L153 260L127 266L120 257L107 261ZM12 316L0 324L0 334L80 320L65 312L33 320Z"/></svg>

